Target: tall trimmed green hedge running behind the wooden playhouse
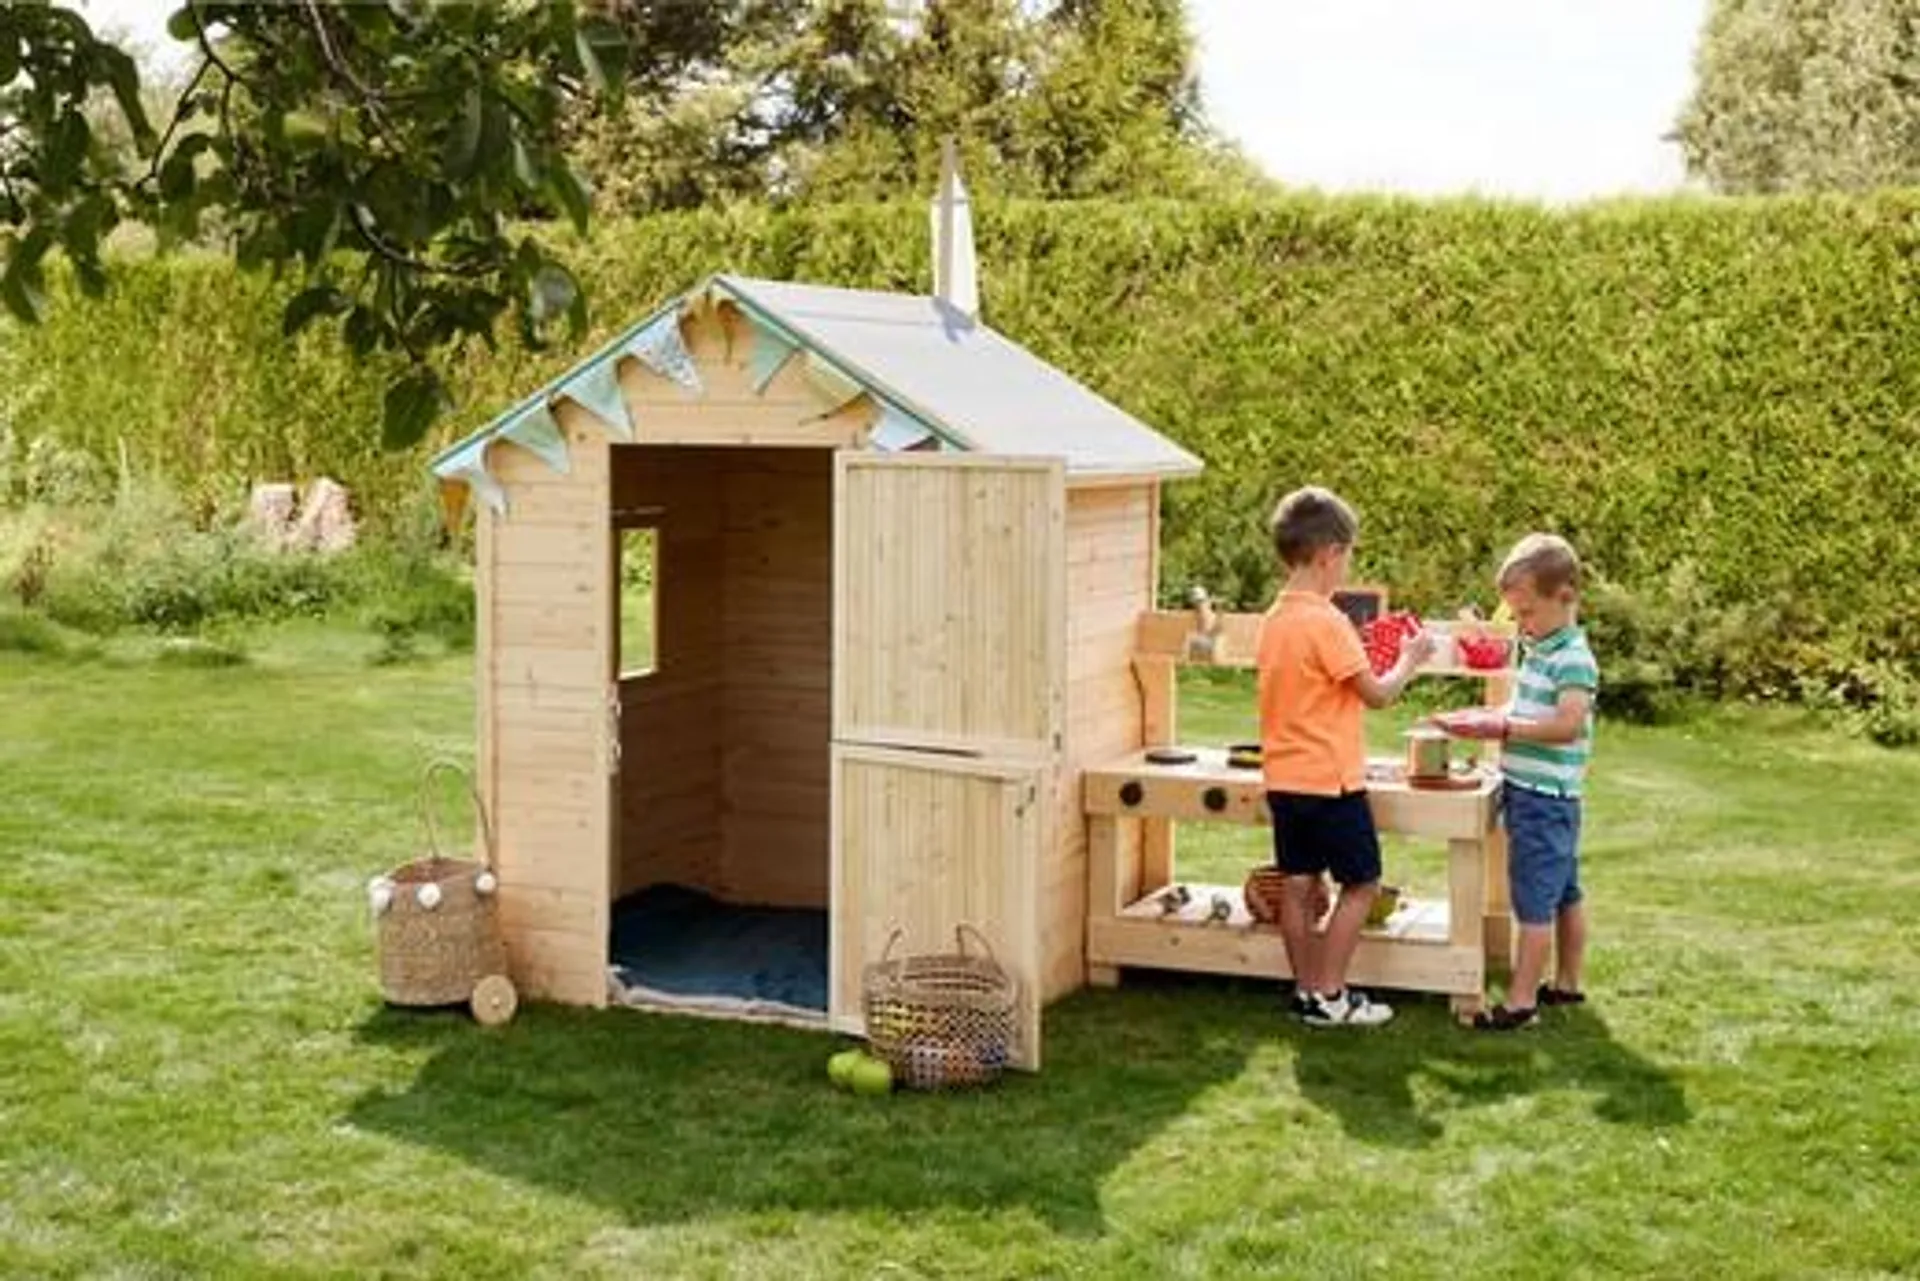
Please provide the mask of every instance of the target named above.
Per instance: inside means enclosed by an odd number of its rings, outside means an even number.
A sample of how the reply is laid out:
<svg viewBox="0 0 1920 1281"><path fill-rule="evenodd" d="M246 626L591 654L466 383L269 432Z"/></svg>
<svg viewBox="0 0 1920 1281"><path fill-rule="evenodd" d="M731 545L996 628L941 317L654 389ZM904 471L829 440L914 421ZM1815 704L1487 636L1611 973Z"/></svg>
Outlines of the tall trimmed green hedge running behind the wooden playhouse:
<svg viewBox="0 0 1920 1281"><path fill-rule="evenodd" d="M1208 461L1167 497L1169 592L1258 603L1265 513L1317 480L1415 605L1488 603L1542 526L1736 632L1715 663L1753 670L1726 688L1920 653L1920 196L1010 205L977 230L989 321ZM924 288L925 209L668 217L572 255L597 340L714 269ZM284 286L217 261L117 275L6 334L17 430L205 495L319 471L374 509L420 492L424 453L372 444L384 371L284 344ZM447 434L564 361L468 361Z"/></svg>

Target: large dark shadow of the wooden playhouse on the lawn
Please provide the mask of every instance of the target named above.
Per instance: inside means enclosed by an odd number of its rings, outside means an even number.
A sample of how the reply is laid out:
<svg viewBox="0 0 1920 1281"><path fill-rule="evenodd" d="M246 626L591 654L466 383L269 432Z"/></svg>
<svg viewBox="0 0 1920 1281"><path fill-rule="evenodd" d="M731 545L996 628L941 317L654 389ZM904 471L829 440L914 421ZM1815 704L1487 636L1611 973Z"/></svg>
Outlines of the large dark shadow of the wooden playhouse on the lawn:
<svg viewBox="0 0 1920 1281"><path fill-rule="evenodd" d="M1081 993L1046 1012L1046 1066L958 1095L833 1091L839 1037L532 1006L499 1029L382 1010L365 1041L430 1049L355 1125L580 1196L628 1221L716 1212L1025 1208L1102 1231L1100 1187L1196 1095L1271 1043L1229 991Z"/></svg>

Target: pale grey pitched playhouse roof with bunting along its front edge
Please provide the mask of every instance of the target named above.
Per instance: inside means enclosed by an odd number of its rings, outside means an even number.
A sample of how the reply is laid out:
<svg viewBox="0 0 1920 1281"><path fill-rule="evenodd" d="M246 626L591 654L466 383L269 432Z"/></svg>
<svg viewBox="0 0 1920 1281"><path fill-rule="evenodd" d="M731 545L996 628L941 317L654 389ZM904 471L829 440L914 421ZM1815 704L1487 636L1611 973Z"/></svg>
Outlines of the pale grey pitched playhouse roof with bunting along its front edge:
<svg viewBox="0 0 1920 1281"><path fill-rule="evenodd" d="M937 298L732 275L701 282L626 328L440 453L434 471L451 478L472 459L474 446L499 436L536 444L516 436L516 428L530 415L545 417L549 398L570 394L622 353L674 376L674 351L662 355L660 348L660 321L708 294L733 302L747 315L770 344L772 361L804 351L808 361L826 365L879 401L895 430L876 432L877 447L889 447L889 438L924 440L931 432L943 447L966 453L1060 457L1069 474L1081 476L1192 476L1200 471L1200 459L1154 428ZM684 359L678 328L664 342ZM697 375L684 371L678 376L697 386ZM899 430L902 426L906 432Z"/></svg>

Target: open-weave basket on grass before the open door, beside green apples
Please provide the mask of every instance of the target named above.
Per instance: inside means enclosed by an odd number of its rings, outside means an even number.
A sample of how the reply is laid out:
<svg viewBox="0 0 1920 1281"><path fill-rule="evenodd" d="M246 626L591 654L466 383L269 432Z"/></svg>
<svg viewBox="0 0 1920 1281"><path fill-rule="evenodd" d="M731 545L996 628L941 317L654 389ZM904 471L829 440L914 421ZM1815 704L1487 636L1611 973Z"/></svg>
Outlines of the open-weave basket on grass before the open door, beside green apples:
<svg viewBox="0 0 1920 1281"><path fill-rule="evenodd" d="M866 1039L893 1079L908 1089L985 1085L1006 1070L1014 1049L1014 979L972 926L954 930L954 951L893 958L895 930L879 960L862 972ZM968 951L968 935L979 955Z"/></svg>

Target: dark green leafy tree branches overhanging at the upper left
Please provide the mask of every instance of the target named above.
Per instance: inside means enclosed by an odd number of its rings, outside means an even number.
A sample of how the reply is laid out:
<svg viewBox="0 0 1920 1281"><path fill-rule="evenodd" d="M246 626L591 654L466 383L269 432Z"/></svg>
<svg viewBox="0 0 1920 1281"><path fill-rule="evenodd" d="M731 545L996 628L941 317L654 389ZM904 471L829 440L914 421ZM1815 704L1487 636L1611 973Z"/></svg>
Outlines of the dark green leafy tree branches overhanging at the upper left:
<svg viewBox="0 0 1920 1281"><path fill-rule="evenodd" d="M182 6L167 29L200 65L156 136L123 50L71 10L0 6L0 83L15 83L19 117L0 150L0 227L13 229L0 302L40 313L54 244L88 292L104 286L98 246L123 217L152 223L163 248L217 229L242 267L305 277L284 334L338 323L355 355L407 357L382 438L419 440L447 403L430 369L447 348L492 344L507 313L536 340L586 325L572 273L509 232L530 217L588 225L561 123L578 94L618 92L626 44L574 10ZM96 146L86 109L102 88L142 163Z"/></svg>

